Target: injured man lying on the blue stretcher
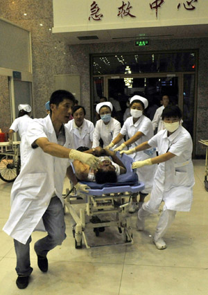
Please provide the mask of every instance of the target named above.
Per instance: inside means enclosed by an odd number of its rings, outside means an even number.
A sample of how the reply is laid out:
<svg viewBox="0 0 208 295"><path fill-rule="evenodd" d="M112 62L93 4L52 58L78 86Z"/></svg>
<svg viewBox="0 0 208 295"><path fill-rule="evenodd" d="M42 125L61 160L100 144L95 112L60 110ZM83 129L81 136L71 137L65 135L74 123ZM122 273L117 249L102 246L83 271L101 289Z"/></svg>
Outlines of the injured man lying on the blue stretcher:
<svg viewBox="0 0 208 295"><path fill-rule="evenodd" d="M78 160L73 161L73 168L76 177L80 181L96 181L97 184L115 183L117 176L126 172L125 166L122 161L116 157L112 150L105 150L102 147L96 147L85 151L88 154L94 154L103 163L101 166L94 170L87 164ZM112 159L110 159L110 157Z"/></svg>

